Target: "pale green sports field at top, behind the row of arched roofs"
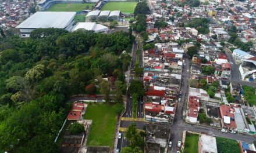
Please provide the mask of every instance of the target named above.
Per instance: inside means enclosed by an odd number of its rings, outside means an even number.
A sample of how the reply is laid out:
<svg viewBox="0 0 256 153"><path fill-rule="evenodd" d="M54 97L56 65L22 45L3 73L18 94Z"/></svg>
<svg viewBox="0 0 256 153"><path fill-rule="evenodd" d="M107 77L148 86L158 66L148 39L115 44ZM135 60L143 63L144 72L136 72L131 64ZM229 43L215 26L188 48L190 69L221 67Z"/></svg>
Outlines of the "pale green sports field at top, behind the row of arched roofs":
<svg viewBox="0 0 256 153"><path fill-rule="evenodd" d="M133 13L137 2L108 2L101 10L120 10L123 13Z"/></svg>

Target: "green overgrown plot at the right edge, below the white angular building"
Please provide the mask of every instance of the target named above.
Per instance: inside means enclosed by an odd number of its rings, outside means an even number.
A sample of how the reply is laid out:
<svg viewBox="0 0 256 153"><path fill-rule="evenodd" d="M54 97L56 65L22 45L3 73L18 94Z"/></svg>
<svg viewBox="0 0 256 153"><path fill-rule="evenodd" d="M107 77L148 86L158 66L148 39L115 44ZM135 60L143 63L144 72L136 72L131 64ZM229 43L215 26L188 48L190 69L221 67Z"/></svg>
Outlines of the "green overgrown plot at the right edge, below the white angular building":
<svg viewBox="0 0 256 153"><path fill-rule="evenodd" d="M256 94L255 88L251 86L243 86L244 96L246 96L246 101L250 106L256 105Z"/></svg>

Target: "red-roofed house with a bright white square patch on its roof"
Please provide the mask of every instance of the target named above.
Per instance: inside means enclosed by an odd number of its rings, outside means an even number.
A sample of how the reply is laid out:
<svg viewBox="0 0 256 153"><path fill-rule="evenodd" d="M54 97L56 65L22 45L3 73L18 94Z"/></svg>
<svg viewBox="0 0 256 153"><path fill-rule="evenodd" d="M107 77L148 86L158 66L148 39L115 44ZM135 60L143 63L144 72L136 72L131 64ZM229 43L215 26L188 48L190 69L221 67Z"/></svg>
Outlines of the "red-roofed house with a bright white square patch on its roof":
<svg viewBox="0 0 256 153"><path fill-rule="evenodd" d="M221 105L219 112L221 114L221 123L223 128L236 129L236 122L234 121L234 108L230 105Z"/></svg>

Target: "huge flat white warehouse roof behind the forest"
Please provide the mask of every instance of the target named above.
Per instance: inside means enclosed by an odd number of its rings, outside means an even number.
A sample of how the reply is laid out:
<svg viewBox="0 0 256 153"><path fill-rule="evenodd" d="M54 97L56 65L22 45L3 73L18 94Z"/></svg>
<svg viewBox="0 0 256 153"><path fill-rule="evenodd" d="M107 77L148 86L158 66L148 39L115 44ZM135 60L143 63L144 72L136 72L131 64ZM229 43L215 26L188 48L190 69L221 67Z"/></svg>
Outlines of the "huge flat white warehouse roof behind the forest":
<svg viewBox="0 0 256 153"><path fill-rule="evenodd" d="M16 28L65 28L76 12L37 12Z"/></svg>

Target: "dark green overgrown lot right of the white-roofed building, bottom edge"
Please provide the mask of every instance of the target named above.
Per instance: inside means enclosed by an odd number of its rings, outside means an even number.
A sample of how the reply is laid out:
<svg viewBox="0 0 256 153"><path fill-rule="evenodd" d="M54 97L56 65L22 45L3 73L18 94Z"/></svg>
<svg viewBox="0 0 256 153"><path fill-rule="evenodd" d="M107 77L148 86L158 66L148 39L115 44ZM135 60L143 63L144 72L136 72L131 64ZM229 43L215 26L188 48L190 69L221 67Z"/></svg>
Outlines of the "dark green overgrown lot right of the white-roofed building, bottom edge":
<svg viewBox="0 0 256 153"><path fill-rule="evenodd" d="M216 137L216 143L219 153L240 153L239 144L236 140Z"/></svg>

